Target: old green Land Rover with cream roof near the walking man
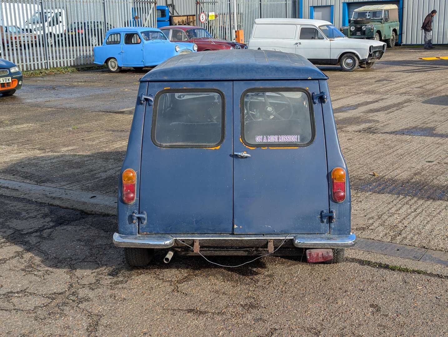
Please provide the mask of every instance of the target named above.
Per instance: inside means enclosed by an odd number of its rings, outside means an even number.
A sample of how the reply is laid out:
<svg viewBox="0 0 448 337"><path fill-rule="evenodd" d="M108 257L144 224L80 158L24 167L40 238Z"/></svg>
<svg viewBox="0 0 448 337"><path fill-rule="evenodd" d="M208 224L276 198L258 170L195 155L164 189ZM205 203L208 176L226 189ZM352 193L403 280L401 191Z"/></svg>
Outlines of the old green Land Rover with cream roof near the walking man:
<svg viewBox="0 0 448 337"><path fill-rule="evenodd" d="M353 12L349 26L340 30L349 38L384 41L392 48L400 32L398 7L395 4L362 6Z"/></svg>

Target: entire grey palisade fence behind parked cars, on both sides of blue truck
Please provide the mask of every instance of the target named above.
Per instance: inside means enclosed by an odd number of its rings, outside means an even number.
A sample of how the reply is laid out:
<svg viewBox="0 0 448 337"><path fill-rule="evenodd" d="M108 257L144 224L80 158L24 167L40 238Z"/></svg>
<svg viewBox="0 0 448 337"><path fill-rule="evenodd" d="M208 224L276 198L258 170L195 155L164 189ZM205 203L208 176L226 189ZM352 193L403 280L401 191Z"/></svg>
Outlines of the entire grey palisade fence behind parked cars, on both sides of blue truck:
<svg viewBox="0 0 448 337"><path fill-rule="evenodd" d="M176 2L177 1L177 2ZM156 27L156 5L196 15L215 38L248 41L259 17L297 17L299 0L0 0L0 57L22 70L93 63L93 48L112 27ZM200 23L199 13L215 13Z"/></svg>

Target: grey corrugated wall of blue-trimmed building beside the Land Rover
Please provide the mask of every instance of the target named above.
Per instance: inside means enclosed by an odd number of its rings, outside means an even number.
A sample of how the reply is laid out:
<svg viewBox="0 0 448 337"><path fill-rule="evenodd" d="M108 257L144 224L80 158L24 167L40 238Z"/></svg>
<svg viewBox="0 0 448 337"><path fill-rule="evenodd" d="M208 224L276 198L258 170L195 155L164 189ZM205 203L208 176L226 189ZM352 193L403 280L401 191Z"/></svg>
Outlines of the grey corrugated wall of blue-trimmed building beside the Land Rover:
<svg viewBox="0 0 448 337"><path fill-rule="evenodd" d="M371 0L370 0L371 1ZM370 2L369 1L369 2ZM310 17L310 6L333 5L334 25L342 26L342 3L359 0L303 0L303 18ZM433 43L448 43L447 0L403 0L402 44L423 44L422 22L431 10L437 10L433 22Z"/></svg>

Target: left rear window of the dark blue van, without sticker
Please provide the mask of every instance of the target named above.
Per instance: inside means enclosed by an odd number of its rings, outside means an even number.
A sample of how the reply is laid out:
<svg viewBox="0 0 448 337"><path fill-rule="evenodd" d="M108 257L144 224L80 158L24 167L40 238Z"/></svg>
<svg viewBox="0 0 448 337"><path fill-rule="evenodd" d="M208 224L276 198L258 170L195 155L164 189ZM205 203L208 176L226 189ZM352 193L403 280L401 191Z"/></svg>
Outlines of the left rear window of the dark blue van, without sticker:
<svg viewBox="0 0 448 337"><path fill-rule="evenodd" d="M224 95L215 89L164 90L155 98L151 138L160 147L216 147L224 141Z"/></svg>

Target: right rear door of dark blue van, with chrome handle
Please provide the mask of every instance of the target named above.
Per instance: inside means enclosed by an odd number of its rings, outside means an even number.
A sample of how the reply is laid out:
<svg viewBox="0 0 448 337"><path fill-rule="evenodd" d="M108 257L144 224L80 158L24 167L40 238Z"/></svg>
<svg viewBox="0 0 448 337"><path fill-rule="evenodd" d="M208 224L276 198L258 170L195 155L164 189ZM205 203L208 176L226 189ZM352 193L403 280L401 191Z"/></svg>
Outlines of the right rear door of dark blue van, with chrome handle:
<svg viewBox="0 0 448 337"><path fill-rule="evenodd" d="M329 192L322 106L313 92L318 81L234 82L235 234L329 232L320 218Z"/></svg>

